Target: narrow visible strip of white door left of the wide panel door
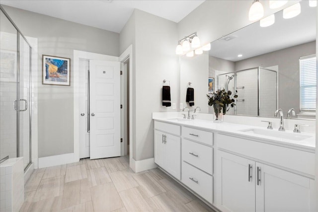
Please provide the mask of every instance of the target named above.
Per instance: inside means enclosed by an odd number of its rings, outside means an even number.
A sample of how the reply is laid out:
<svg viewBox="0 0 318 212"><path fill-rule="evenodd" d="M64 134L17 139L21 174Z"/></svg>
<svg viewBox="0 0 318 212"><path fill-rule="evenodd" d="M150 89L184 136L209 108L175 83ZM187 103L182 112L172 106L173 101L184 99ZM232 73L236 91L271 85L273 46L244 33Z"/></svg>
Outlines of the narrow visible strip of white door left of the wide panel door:
<svg viewBox="0 0 318 212"><path fill-rule="evenodd" d="M88 70L89 61L79 60L79 158L89 157Z"/></svg>

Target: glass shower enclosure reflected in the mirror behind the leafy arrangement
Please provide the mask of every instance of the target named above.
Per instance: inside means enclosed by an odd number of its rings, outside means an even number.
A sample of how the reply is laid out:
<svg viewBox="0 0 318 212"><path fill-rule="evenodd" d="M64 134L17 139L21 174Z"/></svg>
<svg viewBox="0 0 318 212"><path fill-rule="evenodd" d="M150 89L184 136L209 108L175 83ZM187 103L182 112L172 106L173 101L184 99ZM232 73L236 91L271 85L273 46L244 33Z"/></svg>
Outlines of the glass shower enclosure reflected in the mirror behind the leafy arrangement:
<svg viewBox="0 0 318 212"><path fill-rule="evenodd" d="M277 106L277 71L261 67L218 75L218 88L238 91L236 106L227 114L273 116Z"/></svg>

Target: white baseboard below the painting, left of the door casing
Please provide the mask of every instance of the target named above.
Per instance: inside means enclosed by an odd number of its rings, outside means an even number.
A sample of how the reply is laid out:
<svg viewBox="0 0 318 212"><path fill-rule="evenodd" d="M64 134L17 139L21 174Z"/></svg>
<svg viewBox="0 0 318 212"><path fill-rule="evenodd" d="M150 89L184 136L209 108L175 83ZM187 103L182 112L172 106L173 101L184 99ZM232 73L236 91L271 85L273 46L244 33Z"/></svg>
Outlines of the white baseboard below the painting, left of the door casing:
<svg viewBox="0 0 318 212"><path fill-rule="evenodd" d="M45 168L50 166L63 165L67 163L73 163L74 161L74 153L68 154L59 154L48 157L39 157L39 168Z"/></svg>

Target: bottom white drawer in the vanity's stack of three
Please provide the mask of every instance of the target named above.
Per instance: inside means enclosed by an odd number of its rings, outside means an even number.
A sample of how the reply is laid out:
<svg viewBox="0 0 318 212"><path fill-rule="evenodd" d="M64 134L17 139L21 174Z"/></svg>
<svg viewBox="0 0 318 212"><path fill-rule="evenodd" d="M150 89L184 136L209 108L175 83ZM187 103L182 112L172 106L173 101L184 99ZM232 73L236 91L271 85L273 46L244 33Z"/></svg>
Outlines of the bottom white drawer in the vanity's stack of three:
<svg viewBox="0 0 318 212"><path fill-rule="evenodd" d="M182 161L181 181L209 203L213 203L213 177Z"/></svg>

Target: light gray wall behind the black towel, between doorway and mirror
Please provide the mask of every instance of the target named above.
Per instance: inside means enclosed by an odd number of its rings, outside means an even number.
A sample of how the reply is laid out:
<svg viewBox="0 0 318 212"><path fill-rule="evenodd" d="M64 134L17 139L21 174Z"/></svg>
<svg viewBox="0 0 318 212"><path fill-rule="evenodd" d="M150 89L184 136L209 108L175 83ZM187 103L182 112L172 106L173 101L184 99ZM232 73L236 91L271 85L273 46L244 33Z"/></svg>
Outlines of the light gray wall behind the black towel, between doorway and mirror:
<svg viewBox="0 0 318 212"><path fill-rule="evenodd" d="M120 33L121 53L130 45L134 52L133 129L135 160L154 157L152 112L172 111L161 106L162 80L170 80L171 102L178 102L176 23L135 9Z"/></svg>

